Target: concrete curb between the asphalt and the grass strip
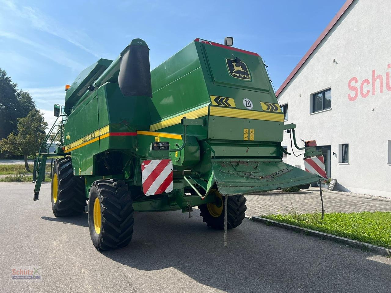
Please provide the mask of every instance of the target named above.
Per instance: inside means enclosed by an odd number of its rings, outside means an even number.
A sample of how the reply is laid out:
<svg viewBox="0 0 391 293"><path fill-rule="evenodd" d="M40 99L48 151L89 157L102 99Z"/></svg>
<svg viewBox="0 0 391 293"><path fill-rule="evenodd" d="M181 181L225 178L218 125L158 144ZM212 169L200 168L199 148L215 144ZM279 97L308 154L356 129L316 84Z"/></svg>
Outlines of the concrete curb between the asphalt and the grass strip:
<svg viewBox="0 0 391 293"><path fill-rule="evenodd" d="M386 256L391 255L391 249L387 249L385 247L381 247L381 246L377 246L377 245L373 245L373 244L369 244L369 243L364 243L361 241L352 240L352 239L348 239L348 238L344 238L344 237L339 237L339 236L335 236L335 235L331 235L331 234L327 234L327 233L323 233L323 232L319 232L319 231L315 231L315 230L311 230L311 229L307 229L307 228L301 228L301 227L294 226L294 225L287 224L287 223L280 223L280 222L276 222L276 221L269 220L269 219L262 218L262 217L258 217L258 216L252 216L251 220L256 221L256 222L269 224L269 225L273 225L273 226L277 226L277 227L281 227L281 228L285 228L288 230L293 230L296 232L301 232L301 233L304 232L308 235L321 237L321 238L332 240L332 241L335 241L338 243L351 245L353 247L364 248L366 250L369 250L370 252L376 252L378 254L382 254L382 255L386 255Z"/></svg>

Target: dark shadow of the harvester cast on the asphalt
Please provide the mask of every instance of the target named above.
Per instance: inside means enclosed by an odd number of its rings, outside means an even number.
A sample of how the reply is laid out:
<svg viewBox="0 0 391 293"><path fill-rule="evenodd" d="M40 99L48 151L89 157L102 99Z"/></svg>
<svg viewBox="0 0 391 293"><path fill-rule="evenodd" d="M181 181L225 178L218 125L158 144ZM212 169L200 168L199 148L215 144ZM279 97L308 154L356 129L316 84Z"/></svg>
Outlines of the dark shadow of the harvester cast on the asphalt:
<svg viewBox="0 0 391 293"><path fill-rule="evenodd" d="M129 246L102 254L138 270L174 267L226 292L386 292L391 285L391 266L369 253L248 219L228 231L224 247L223 232L206 227L198 210L191 219L181 211L135 213Z"/></svg>

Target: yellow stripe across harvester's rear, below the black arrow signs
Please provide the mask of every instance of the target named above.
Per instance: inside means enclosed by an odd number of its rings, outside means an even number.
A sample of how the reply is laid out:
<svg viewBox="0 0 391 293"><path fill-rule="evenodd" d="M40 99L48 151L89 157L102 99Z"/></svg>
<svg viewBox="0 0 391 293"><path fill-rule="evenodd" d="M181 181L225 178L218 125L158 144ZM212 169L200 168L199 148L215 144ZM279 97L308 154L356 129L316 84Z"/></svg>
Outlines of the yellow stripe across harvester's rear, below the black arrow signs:
<svg viewBox="0 0 391 293"><path fill-rule="evenodd" d="M266 120L266 121L277 121L283 122L284 115L277 113L265 113L260 111L249 111L241 109L230 109L223 107L210 107L211 116L222 116L222 117L232 117L232 118L245 118L245 119L256 119L256 120Z"/></svg>

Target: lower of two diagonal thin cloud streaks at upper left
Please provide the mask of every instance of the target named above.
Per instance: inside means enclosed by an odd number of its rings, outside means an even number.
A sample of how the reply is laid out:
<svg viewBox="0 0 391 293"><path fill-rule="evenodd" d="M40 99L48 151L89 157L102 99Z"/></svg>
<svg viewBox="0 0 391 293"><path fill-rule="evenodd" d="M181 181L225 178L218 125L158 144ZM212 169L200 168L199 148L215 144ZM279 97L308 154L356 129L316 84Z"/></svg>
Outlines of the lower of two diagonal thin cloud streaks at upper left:
<svg viewBox="0 0 391 293"><path fill-rule="evenodd" d="M43 46L35 41L27 39L13 32L0 30L0 37L14 39L16 41L25 43L26 45L29 45L30 49L34 49L34 52L37 54L42 55L43 57L46 57L60 65L72 68L75 71L81 71L87 67L70 59L69 57L66 57L66 53L63 50L59 50L51 46Z"/></svg>

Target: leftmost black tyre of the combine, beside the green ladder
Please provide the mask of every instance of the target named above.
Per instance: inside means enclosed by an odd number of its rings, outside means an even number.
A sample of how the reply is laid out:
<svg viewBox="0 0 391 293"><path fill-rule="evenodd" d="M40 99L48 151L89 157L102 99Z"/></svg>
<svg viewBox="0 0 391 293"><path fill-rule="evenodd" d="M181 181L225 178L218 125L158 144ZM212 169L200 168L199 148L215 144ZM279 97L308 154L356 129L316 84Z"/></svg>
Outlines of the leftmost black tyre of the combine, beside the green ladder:
<svg viewBox="0 0 391 293"><path fill-rule="evenodd" d="M53 184L57 175L57 200L54 202ZM84 213L86 192L83 178L74 176L70 157L56 159L52 174L52 210L56 217Z"/></svg>

